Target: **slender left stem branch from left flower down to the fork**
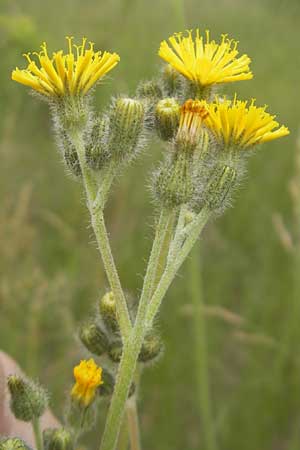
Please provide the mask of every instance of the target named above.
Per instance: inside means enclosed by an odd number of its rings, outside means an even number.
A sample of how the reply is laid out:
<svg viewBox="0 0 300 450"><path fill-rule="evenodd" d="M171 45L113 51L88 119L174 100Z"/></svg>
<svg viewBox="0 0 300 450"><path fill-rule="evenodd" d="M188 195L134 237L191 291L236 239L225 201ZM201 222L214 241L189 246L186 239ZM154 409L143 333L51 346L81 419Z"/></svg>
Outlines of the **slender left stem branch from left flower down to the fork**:
<svg viewBox="0 0 300 450"><path fill-rule="evenodd" d="M107 278L114 293L117 305L117 314L120 323L120 330L124 340L126 340L132 329L126 298L120 283L119 275L115 266L114 258L111 252L109 239L103 216L101 205L95 205L97 197L97 184L93 172L88 168L85 160L85 146L82 138L82 132L74 131L71 134L72 141L76 147L80 161L83 183L86 190L88 208L91 214L92 227L96 236L97 244L101 253ZM106 180L106 184L109 182ZM101 186L100 186L101 189Z"/></svg>

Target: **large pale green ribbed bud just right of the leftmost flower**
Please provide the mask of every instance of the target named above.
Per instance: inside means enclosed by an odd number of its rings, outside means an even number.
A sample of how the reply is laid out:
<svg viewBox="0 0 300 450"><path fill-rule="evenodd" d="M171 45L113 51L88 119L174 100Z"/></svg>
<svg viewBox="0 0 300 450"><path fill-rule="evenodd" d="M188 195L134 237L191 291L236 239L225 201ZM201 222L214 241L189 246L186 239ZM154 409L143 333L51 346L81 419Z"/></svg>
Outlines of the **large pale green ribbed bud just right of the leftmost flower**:
<svg viewBox="0 0 300 450"><path fill-rule="evenodd" d="M110 112L108 151L117 161L130 160L141 144L145 107L142 101L118 98Z"/></svg>

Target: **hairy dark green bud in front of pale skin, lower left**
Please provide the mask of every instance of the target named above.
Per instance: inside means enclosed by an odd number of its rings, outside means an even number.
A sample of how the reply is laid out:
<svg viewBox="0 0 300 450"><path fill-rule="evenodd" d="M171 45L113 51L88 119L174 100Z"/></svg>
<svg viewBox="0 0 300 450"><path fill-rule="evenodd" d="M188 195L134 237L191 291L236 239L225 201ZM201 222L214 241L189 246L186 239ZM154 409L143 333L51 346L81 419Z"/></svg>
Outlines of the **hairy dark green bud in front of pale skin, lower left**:
<svg viewBox="0 0 300 450"><path fill-rule="evenodd" d="M30 422L44 413L48 406L48 395L40 385L10 375L7 386L11 395L10 409L17 419Z"/></svg>

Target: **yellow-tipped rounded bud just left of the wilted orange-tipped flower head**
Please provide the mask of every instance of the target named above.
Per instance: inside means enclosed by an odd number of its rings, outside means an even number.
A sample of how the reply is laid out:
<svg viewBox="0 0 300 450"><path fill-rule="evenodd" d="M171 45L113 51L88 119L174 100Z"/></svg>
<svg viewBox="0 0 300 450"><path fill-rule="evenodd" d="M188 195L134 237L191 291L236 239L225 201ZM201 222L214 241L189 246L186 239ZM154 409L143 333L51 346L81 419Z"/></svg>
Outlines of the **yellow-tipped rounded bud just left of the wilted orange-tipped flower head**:
<svg viewBox="0 0 300 450"><path fill-rule="evenodd" d="M159 137L170 141L177 133L180 118L180 106L175 98L160 100L155 109L155 124Z"/></svg>

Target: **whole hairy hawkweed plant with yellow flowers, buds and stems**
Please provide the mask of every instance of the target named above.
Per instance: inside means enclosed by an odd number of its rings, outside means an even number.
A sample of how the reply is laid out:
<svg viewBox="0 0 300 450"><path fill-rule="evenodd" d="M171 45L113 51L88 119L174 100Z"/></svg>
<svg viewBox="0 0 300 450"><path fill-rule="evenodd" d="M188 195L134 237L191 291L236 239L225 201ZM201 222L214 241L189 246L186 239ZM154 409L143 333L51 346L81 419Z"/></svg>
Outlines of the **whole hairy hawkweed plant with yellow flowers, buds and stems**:
<svg viewBox="0 0 300 450"><path fill-rule="evenodd" d="M253 77L250 58L240 56L238 43L227 35L216 42L208 31L204 36L199 30L174 34L160 45L159 56L167 64L158 77L140 83L132 98L112 99L101 114L93 109L93 92L120 58L95 51L86 39L80 45L71 37L67 42L66 54L60 50L49 56L45 43L40 53L26 54L27 68L15 69L12 79L49 104L66 167L85 190L110 290L79 329L81 343L96 362L91 357L74 368L62 428L41 435L39 418L48 394L31 380L9 378L11 409L33 423L38 450L71 450L94 427L98 401L108 397L101 450L116 449L126 408L131 447L139 449L137 382L162 353L155 327L161 303L207 222L231 204L248 156L289 130L255 100L220 94L223 84ZM121 286L104 211L113 181L155 134L165 143L163 160L150 177L155 235L141 296L132 304Z"/></svg>

